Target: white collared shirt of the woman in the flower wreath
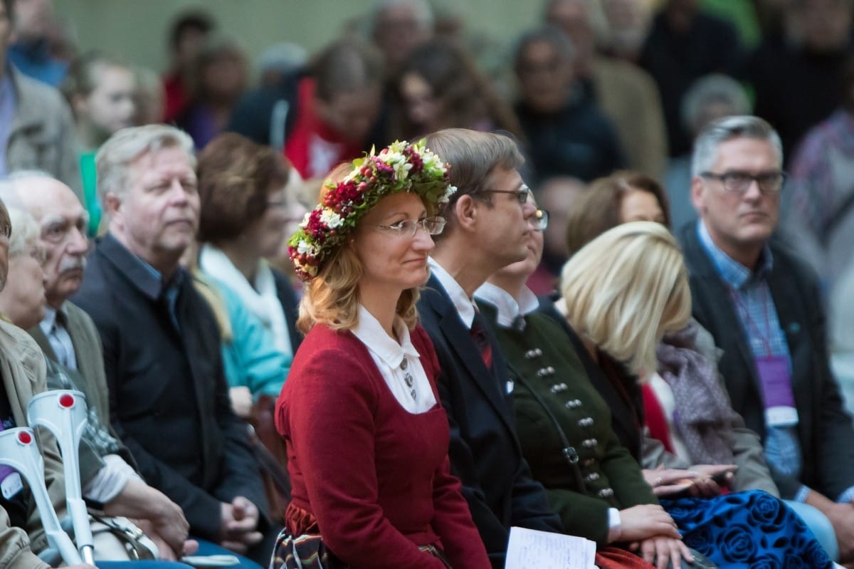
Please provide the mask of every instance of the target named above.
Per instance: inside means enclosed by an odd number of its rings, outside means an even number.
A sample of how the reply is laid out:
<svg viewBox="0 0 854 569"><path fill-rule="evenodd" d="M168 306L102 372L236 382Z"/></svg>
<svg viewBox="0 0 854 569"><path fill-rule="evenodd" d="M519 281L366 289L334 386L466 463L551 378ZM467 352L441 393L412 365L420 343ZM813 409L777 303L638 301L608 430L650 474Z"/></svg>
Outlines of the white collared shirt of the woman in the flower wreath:
<svg viewBox="0 0 854 569"><path fill-rule="evenodd" d="M430 388L418 350L412 345L407 325L395 316L393 326L401 343L395 342L373 314L360 305L359 324L353 329L353 334L365 344L401 407L412 414L425 413L436 405L436 396Z"/></svg>

